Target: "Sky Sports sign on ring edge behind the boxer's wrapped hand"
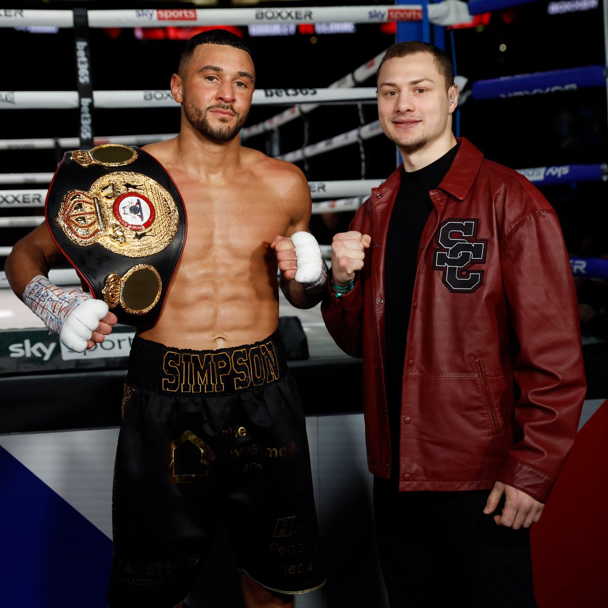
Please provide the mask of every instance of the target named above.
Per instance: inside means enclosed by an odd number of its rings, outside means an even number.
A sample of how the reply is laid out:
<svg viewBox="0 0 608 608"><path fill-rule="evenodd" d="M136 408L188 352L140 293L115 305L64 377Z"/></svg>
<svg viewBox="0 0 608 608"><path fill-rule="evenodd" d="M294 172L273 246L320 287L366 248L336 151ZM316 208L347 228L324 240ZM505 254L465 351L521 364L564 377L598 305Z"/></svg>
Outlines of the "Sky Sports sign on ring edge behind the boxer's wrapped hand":
<svg viewBox="0 0 608 608"><path fill-rule="evenodd" d="M77 353L46 329L0 331L0 376L57 370L126 369L133 327L116 325L101 344Z"/></svg>

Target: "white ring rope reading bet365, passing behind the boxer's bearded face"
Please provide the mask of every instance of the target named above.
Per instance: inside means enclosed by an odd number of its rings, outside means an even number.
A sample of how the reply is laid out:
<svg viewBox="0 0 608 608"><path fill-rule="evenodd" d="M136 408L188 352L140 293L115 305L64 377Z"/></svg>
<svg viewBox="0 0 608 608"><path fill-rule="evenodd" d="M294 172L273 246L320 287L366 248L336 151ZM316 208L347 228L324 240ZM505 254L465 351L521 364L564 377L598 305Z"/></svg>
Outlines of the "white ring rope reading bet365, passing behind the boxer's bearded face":
<svg viewBox="0 0 608 608"><path fill-rule="evenodd" d="M291 105L310 100L321 103L360 103L376 100L375 87L354 89L259 89L252 105ZM93 91L95 108L177 108L171 91ZM0 109L79 108L77 91L0 91Z"/></svg>

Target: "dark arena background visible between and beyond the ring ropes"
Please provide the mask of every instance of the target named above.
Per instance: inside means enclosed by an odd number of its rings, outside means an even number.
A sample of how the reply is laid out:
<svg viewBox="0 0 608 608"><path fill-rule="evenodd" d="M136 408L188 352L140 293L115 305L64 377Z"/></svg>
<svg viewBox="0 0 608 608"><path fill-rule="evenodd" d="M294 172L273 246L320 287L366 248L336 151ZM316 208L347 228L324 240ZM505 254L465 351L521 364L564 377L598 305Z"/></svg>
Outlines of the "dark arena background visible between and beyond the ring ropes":
<svg viewBox="0 0 608 608"><path fill-rule="evenodd" d="M335 2L260 2L258 7L306 7ZM365 0L350 5L392 5ZM556 69L605 65L602 4L584 12L548 14L547 1L536 1L480 16L476 27L445 29L444 46L454 60L456 73L468 78L461 91L487 78ZM21 1L14 7L32 9L192 8L188 2L49 2ZM219 0L212 8L233 6ZM254 4L247 4L254 7ZM395 41L395 33L381 24L356 24L354 34L250 38L247 27L238 28L249 43L257 67L257 88L324 88L352 72ZM389 31L387 31L389 30ZM74 91L76 71L74 32L55 34L2 29L1 91ZM185 31L185 30L184 30ZM159 33L161 35L162 33ZM182 41L138 40L133 29L91 29L89 32L92 83L97 90L168 89ZM500 45L506 45L501 51ZM375 86L373 78L361 83ZM497 100L471 96L457 110L454 130L468 137L494 161L516 169L608 161L606 89L531 95ZM285 106L253 106L246 125L283 111ZM375 104L324 105L280 128L280 152L286 153L356 128L361 121L378 118ZM74 137L76 110L4 110L0 114L2 139ZM179 108L97 109L96 136L176 133ZM307 139L306 139L307 138ZM266 135L250 137L246 145L270 150ZM63 150L0 151L2 173L52 172ZM364 162L358 145L321 154L297 165L309 181L381 179L395 168L396 151L384 136L364 142ZM33 185L32 188L45 185ZM10 188L3 186L2 188ZM15 185L15 188L24 188ZM568 250L573 256L608 257L608 184L603 181L541 187L561 219ZM40 215L40 209L14 209L13 215ZM314 215L311 230L322 243L344 229L352 213L337 214L327 226ZM329 221L326 219L326 221ZM29 229L0 229L2 246L13 244ZM3 259L0 259L3 263ZM581 302L583 334L608 339L606 281L576 280Z"/></svg>

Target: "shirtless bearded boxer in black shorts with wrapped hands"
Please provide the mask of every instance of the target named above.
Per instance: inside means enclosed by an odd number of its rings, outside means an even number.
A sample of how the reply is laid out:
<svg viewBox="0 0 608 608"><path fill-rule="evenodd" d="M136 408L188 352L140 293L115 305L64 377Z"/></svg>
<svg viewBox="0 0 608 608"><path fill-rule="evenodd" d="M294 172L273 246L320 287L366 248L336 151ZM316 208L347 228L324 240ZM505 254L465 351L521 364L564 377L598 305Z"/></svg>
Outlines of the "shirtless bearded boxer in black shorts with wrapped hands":
<svg viewBox="0 0 608 608"><path fill-rule="evenodd" d="M325 264L305 176L239 143L254 81L237 36L194 36L171 78L180 133L143 148L178 186L188 232L162 314L131 349L110 608L181 606L220 513L247 608L293 606L325 582L305 418L277 331L277 266L289 302L310 308ZM50 285L60 257L43 224L15 244L7 277L50 331L85 350L117 319L102 300ZM41 305L49 297L63 300L57 318Z"/></svg>

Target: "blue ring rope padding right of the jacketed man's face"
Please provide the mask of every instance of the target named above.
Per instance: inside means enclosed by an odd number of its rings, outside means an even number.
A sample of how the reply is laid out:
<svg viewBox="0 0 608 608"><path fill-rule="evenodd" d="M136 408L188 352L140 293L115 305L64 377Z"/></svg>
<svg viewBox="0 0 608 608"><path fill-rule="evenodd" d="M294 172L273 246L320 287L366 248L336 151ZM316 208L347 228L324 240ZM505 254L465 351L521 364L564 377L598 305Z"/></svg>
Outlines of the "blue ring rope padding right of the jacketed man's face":
<svg viewBox="0 0 608 608"><path fill-rule="evenodd" d="M554 92L551 90L553 88L555 91L563 91L589 86L606 86L604 66L572 67L551 72L478 80L473 83L471 94L475 99L495 99L551 93Z"/></svg>

